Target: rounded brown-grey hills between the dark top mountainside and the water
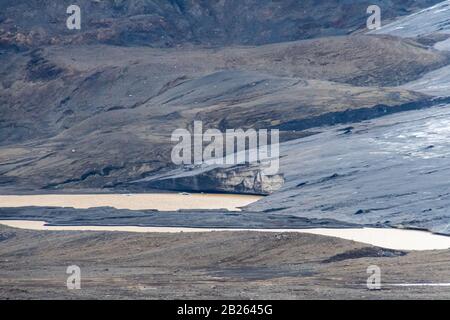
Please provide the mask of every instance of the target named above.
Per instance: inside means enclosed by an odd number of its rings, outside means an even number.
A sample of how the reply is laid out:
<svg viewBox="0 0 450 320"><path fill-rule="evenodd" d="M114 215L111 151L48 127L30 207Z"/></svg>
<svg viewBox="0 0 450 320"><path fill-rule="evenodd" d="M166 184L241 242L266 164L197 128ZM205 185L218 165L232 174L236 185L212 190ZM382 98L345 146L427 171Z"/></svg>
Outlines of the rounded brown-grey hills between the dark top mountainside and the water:
<svg viewBox="0 0 450 320"><path fill-rule="evenodd" d="M55 189L117 187L170 167L170 134L194 120L292 138L373 116L349 110L421 107L426 95L384 85L448 56L409 40L351 36L182 52L52 46L2 59L2 186Z"/></svg>

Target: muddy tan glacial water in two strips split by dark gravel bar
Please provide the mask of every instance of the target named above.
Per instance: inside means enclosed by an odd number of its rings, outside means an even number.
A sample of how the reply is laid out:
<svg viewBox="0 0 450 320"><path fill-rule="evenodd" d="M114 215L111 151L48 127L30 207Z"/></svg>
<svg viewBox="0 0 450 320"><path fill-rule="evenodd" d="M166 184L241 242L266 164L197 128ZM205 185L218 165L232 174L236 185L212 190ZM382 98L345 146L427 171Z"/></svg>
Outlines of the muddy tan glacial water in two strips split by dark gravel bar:
<svg viewBox="0 0 450 320"><path fill-rule="evenodd" d="M110 206L117 209L227 209L240 207L261 197L229 194L98 194L98 195L31 195L0 196L0 207L53 206L79 209ZM47 226L44 221L0 220L0 224L29 230L122 231L122 232L217 232L260 231L298 232L337 237L395 250L438 250L450 248L450 237L425 231L354 228L354 229L206 229L136 226Z"/></svg>

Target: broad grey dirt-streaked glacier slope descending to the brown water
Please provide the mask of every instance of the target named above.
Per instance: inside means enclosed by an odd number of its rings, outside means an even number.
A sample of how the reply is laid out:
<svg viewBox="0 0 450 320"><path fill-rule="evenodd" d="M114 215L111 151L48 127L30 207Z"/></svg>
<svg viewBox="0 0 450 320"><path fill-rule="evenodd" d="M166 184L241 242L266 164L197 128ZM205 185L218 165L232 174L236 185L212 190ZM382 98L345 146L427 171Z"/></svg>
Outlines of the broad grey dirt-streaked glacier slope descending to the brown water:
<svg viewBox="0 0 450 320"><path fill-rule="evenodd" d="M449 123L443 104L282 143L285 184L246 210L449 235Z"/></svg>

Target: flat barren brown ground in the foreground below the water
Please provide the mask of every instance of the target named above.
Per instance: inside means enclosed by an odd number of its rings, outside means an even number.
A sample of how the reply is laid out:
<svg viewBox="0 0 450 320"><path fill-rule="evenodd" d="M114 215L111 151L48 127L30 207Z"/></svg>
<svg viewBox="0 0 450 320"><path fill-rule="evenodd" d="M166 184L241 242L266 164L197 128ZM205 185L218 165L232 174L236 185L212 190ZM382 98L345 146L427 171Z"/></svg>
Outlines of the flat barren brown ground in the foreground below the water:
<svg viewBox="0 0 450 320"><path fill-rule="evenodd" d="M388 283L441 283L448 252L406 253L299 234L36 232L0 226L0 298L448 298L446 288L369 291L367 267ZM81 267L81 290L66 268Z"/></svg>

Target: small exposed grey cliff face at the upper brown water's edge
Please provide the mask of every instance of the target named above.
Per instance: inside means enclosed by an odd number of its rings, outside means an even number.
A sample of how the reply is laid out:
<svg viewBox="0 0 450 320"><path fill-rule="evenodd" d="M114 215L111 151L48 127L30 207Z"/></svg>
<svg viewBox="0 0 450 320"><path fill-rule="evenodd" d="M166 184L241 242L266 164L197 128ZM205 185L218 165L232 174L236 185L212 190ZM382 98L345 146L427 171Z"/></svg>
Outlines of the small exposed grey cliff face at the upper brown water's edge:
<svg viewBox="0 0 450 320"><path fill-rule="evenodd" d="M284 177L282 174L264 175L260 168L245 165L200 172L194 170L137 184L164 190L268 195L283 186Z"/></svg>

